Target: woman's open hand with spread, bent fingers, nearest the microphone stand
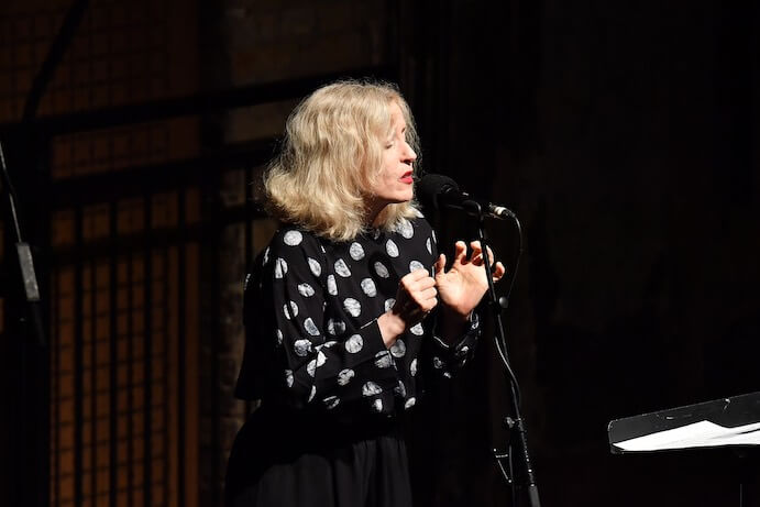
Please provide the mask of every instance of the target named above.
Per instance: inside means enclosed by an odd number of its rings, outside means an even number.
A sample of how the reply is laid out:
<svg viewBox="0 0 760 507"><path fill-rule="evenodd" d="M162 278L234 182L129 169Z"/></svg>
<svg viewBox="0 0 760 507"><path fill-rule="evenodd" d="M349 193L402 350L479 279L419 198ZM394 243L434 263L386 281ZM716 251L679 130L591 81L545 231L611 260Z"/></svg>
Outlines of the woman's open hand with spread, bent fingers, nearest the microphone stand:
<svg viewBox="0 0 760 507"><path fill-rule="evenodd" d="M436 288L438 298L444 309L455 316L466 319L475 309L483 295L488 289L486 271L483 268L483 249L480 241L470 243L472 249L467 258L464 241L454 244L454 262L445 271L445 255L441 254L436 262ZM494 254L488 249L488 258L494 266ZM505 273L504 265L497 262L492 268L494 282L498 282Z"/></svg>

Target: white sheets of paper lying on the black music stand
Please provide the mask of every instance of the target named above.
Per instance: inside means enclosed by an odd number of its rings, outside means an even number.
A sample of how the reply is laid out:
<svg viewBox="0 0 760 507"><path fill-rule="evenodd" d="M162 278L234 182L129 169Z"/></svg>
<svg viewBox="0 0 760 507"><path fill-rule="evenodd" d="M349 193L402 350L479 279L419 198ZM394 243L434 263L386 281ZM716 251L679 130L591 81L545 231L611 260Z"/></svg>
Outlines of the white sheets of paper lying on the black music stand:
<svg viewBox="0 0 760 507"><path fill-rule="evenodd" d="M722 445L760 445L760 422L726 428L711 421L691 425L624 440L614 444L628 452L669 449L713 448Z"/></svg>

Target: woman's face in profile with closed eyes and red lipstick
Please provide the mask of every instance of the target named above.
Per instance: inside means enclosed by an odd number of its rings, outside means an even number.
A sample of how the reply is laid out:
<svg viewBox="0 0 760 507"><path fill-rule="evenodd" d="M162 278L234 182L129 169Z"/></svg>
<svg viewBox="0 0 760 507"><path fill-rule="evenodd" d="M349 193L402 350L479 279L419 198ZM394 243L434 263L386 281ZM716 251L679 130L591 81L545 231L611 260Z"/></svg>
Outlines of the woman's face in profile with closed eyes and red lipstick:
<svg viewBox="0 0 760 507"><path fill-rule="evenodd" d="M406 120L401 108L392 101L388 109L392 133L384 140L381 172L370 188L371 208L375 213L387 205L406 202L415 196L411 165L417 154L406 142Z"/></svg>

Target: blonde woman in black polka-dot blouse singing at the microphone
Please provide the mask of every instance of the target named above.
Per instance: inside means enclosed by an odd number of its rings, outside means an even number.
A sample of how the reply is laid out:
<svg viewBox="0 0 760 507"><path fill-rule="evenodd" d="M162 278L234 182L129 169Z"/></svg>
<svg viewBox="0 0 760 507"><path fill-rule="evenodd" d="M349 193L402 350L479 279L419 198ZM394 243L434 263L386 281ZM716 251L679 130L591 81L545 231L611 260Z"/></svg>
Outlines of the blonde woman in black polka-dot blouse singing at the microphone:
<svg viewBox="0 0 760 507"><path fill-rule="evenodd" d="M233 445L228 505L411 505L401 415L425 377L470 357L487 288L477 243L467 256L458 242L449 269L438 254L414 203L416 146L389 85L329 85L290 114L264 180L283 225L245 288L235 394L262 403Z"/></svg>

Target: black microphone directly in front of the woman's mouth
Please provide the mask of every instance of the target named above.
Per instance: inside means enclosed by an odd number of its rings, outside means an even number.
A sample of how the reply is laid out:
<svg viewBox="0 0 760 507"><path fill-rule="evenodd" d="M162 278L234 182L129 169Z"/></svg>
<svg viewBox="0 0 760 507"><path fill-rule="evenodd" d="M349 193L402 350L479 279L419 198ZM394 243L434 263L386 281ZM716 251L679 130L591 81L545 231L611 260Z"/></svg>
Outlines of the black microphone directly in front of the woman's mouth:
<svg viewBox="0 0 760 507"><path fill-rule="evenodd" d="M470 214L481 213L499 220L516 218L515 213L504 206L494 205L476 199L460 190L456 181L441 174L426 174L417 184L417 192L422 203L430 202L434 208L439 205L447 208L462 209Z"/></svg>

